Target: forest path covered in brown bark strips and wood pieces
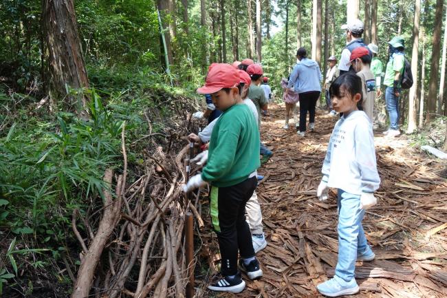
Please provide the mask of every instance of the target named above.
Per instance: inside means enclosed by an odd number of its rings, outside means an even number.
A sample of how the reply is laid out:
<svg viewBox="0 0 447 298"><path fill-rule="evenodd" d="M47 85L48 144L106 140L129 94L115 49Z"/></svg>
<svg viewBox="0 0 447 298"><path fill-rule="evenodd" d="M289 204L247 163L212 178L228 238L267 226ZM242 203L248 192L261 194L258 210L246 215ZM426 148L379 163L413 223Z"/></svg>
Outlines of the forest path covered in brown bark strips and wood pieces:
<svg viewBox="0 0 447 298"><path fill-rule="evenodd" d="M218 270L219 251L204 198L207 224L200 240L208 264L196 275L197 297L320 297L316 285L334 275L336 190L320 202L316 187L338 117L317 111L315 131L298 138L293 120L283 129L284 109L272 105L261 127L261 139L274 152L259 169L265 178L257 189L268 241L257 254L263 277L243 277L247 288L238 295L205 290ZM447 297L446 162L421 153L406 136L389 139L379 131L375 148L382 182L378 205L366 212L363 227L376 258L356 264L360 292L351 297Z"/></svg>

